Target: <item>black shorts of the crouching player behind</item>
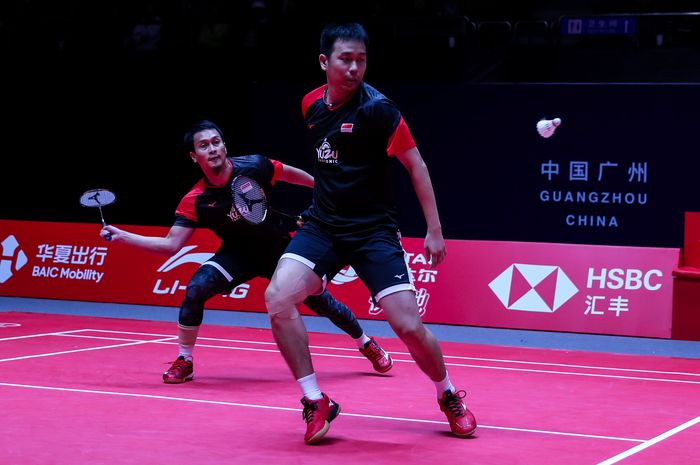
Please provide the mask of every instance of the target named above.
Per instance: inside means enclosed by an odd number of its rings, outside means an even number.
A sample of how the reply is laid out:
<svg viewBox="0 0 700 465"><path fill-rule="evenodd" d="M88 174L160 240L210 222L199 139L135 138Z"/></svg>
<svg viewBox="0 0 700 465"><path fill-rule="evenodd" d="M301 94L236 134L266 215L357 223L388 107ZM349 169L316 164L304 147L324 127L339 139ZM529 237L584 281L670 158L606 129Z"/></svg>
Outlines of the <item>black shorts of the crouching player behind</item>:
<svg viewBox="0 0 700 465"><path fill-rule="evenodd" d="M270 279L290 239L270 241L264 246L246 246L224 241L202 266L210 265L219 270L231 284L231 289L253 278Z"/></svg>

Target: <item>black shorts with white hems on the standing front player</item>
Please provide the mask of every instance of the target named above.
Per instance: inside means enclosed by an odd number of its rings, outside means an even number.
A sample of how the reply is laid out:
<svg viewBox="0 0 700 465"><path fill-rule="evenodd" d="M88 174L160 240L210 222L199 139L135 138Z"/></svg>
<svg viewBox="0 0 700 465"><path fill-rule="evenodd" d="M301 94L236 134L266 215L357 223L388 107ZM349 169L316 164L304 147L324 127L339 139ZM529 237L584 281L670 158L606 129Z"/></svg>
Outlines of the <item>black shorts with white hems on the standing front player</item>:
<svg viewBox="0 0 700 465"><path fill-rule="evenodd" d="M324 285L345 265L350 265L375 302L394 292L415 292L413 276L396 230L338 235L308 221L296 232L282 257L305 264Z"/></svg>

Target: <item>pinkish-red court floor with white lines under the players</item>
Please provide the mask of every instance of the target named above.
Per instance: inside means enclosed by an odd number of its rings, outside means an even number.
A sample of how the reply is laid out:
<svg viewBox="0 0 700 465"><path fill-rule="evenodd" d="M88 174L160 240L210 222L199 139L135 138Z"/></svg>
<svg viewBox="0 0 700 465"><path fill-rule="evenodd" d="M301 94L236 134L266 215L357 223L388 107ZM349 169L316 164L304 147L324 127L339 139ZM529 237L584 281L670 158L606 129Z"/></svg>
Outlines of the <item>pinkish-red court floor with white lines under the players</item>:
<svg viewBox="0 0 700 465"><path fill-rule="evenodd" d="M479 422L458 439L405 346L375 374L347 336L311 333L342 406L303 442L301 393L267 329L205 323L195 380L166 385L174 322L0 313L2 464L700 463L700 359L444 342Z"/></svg>

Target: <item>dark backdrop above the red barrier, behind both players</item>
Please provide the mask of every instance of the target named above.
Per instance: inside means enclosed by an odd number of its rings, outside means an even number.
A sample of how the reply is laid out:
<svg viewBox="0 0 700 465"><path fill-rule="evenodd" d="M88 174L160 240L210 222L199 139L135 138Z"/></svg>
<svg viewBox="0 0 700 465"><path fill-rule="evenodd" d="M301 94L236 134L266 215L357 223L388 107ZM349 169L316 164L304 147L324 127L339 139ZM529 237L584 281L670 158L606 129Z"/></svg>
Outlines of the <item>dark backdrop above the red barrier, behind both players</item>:
<svg viewBox="0 0 700 465"><path fill-rule="evenodd" d="M567 3L566 9L555 5ZM310 169L300 99L323 83L318 35L362 21L366 80L402 109L430 168L445 236L678 247L700 210L695 2L50 1L0 7L0 218L95 222L87 189L117 194L115 224L172 223L199 178L184 131L207 118L230 153ZM348 6L350 5L350 6ZM571 37L567 16L635 18L633 35ZM154 32L139 36L139 25ZM561 117L551 139L535 131ZM541 163L644 161L648 180L547 184ZM403 232L424 224L397 169ZM643 191L645 205L545 204L544 188ZM280 187L281 209L310 193ZM614 216L571 227L565 215Z"/></svg>

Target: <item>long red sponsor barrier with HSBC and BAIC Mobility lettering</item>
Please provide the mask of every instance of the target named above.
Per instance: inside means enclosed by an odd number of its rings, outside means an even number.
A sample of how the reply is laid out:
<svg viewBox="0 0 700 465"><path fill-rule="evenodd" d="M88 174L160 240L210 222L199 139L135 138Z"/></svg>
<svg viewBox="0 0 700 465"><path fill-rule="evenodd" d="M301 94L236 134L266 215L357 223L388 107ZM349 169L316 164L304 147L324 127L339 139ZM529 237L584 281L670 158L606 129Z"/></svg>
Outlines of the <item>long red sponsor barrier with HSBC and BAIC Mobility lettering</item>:
<svg viewBox="0 0 700 465"><path fill-rule="evenodd" d="M99 229L0 220L0 295L179 306L190 277L219 245L209 231L197 231L170 257L104 241ZM427 323L671 337L679 249L448 240L446 261L431 269L422 239L403 244ZM266 286L255 279L207 308L264 312ZM329 290L359 318L383 319L352 268Z"/></svg>

